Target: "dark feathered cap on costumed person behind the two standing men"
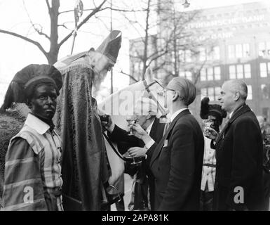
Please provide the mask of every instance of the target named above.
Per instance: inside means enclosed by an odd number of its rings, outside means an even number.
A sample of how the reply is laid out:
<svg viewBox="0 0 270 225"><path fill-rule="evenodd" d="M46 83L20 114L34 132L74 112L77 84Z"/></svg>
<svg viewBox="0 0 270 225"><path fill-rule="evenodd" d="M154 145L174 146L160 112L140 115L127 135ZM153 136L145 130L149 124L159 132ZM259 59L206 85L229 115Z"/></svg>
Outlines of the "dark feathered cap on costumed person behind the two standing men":
<svg viewBox="0 0 270 225"><path fill-rule="evenodd" d="M201 112L200 116L203 120L208 119L208 115L213 115L217 117L217 120L222 124L223 118L227 117L227 113L225 110L222 110L220 105L217 104L209 104L209 98L205 97L201 101Z"/></svg>

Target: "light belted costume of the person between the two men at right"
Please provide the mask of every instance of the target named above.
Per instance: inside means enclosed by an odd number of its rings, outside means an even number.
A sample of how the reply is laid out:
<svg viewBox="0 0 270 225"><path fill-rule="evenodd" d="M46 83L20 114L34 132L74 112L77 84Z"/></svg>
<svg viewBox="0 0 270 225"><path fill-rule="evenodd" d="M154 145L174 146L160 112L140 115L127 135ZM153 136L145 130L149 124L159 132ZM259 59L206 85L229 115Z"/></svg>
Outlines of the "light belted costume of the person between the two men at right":
<svg viewBox="0 0 270 225"><path fill-rule="evenodd" d="M205 191L206 183L208 191L214 191L215 186L215 149L210 148L211 140L204 138L203 171L201 176L201 191Z"/></svg>

